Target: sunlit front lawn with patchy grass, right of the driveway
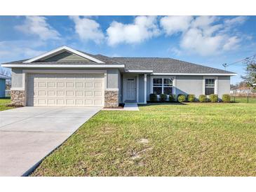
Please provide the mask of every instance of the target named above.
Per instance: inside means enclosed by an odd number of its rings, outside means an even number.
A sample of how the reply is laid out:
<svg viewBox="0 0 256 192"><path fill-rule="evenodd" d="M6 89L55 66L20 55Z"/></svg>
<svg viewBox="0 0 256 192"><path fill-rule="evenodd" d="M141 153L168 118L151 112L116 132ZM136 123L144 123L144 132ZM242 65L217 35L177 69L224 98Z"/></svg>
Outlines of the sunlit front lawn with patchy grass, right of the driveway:
<svg viewBox="0 0 256 192"><path fill-rule="evenodd" d="M32 176L256 176L255 114L244 103L100 111Z"/></svg>

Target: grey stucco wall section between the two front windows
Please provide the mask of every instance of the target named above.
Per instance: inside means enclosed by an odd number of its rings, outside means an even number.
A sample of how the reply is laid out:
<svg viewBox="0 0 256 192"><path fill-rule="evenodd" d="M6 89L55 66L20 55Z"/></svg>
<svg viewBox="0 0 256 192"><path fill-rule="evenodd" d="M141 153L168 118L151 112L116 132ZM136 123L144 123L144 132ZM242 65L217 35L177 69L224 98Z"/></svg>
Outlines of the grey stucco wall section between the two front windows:
<svg viewBox="0 0 256 192"><path fill-rule="evenodd" d="M193 94L197 98L203 94L203 76L176 76L176 95Z"/></svg>

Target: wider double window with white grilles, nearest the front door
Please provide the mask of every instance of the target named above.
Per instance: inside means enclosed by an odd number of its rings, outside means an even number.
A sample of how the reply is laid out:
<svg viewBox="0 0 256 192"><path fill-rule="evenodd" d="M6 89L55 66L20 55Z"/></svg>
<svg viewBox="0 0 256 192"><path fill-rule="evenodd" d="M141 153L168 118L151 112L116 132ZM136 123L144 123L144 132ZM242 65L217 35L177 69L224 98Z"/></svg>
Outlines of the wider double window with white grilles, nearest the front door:
<svg viewBox="0 0 256 192"><path fill-rule="evenodd" d="M173 94L173 79L172 78L153 78L153 92L157 95L165 93L166 95Z"/></svg>

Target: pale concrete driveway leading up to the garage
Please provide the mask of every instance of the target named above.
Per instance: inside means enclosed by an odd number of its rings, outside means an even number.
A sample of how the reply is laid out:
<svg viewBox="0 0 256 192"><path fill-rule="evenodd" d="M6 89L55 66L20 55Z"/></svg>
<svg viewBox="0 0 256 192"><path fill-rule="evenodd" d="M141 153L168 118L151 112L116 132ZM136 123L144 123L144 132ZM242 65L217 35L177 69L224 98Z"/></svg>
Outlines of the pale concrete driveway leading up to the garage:
<svg viewBox="0 0 256 192"><path fill-rule="evenodd" d="M31 171L100 107L21 107L0 111L0 176Z"/></svg>

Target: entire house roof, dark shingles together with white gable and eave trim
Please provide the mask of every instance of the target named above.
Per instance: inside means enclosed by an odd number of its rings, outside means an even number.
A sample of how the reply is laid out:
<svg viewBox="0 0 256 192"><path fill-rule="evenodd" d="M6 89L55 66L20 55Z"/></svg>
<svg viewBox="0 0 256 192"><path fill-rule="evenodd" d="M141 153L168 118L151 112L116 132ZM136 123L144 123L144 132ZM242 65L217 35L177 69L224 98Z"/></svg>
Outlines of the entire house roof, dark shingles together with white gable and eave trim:
<svg viewBox="0 0 256 192"><path fill-rule="evenodd" d="M68 51L70 53L84 57L87 60L81 61L48 61L47 58L53 57ZM161 57L107 57L105 55L92 55L80 50L74 50L67 46L62 46L55 50L49 51L38 57L34 57L29 60L20 60L15 62L8 62L2 64L3 67L124 67L126 71L151 71L153 74L187 74L187 75L236 75L231 71L224 71L222 69L216 69L213 67L206 67L200 64L194 64L191 62L184 62L181 60L175 60L172 58Z"/></svg>

